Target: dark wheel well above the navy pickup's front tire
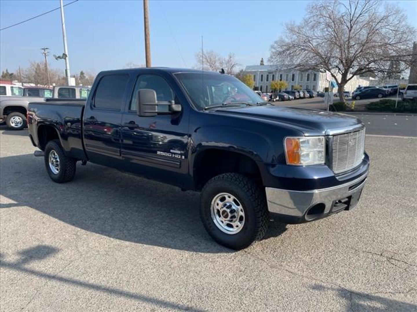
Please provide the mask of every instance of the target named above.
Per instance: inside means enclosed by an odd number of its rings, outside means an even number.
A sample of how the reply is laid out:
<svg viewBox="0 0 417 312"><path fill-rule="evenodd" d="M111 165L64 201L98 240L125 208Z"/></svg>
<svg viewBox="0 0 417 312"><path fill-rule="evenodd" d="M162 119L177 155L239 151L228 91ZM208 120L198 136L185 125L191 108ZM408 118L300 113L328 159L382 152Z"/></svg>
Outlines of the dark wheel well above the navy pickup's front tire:
<svg viewBox="0 0 417 312"><path fill-rule="evenodd" d="M261 173L256 162L249 156L219 149L209 149L198 154L194 161L193 175L196 189L200 190L211 178L222 173L241 173L262 183Z"/></svg>

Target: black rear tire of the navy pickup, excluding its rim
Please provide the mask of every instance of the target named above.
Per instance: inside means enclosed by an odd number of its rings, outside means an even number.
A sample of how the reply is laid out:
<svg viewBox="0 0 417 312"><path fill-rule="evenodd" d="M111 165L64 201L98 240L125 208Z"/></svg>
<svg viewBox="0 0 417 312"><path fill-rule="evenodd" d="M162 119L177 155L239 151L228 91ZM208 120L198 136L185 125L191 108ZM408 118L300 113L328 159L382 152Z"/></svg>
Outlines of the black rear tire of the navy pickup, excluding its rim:
<svg viewBox="0 0 417 312"><path fill-rule="evenodd" d="M58 155L59 170L58 173L54 173L50 167L49 156L51 152L55 152ZM56 183L65 183L72 181L75 176L76 159L65 156L59 140L52 140L46 144L45 147L45 167L49 177Z"/></svg>

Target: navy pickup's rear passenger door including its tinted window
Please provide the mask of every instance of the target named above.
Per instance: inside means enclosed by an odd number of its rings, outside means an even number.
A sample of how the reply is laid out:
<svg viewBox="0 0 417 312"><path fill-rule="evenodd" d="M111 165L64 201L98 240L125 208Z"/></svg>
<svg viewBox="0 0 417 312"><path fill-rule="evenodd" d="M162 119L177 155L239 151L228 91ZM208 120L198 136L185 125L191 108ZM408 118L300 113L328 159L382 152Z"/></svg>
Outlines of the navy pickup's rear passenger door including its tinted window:
<svg viewBox="0 0 417 312"><path fill-rule="evenodd" d="M84 144L93 163L117 167L120 160L121 120L126 102L128 74L108 74L100 78L95 94L84 113Z"/></svg>

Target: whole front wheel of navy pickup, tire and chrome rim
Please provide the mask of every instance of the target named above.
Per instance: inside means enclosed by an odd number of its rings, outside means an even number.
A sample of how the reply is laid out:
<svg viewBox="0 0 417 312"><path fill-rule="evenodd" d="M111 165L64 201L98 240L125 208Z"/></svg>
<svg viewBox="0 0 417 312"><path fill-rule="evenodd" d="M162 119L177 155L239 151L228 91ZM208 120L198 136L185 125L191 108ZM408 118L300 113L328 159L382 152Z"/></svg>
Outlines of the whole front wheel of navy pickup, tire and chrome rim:
<svg viewBox="0 0 417 312"><path fill-rule="evenodd" d="M208 181L201 192L200 209L208 234L228 248L246 248L266 233L265 194L239 173L224 173Z"/></svg>

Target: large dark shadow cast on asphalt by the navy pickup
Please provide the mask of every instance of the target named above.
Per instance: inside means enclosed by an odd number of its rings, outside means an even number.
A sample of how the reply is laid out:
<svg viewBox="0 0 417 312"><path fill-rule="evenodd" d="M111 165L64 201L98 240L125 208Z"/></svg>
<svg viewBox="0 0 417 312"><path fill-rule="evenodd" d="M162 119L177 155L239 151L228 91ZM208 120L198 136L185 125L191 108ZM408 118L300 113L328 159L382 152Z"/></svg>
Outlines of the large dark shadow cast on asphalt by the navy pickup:
<svg viewBox="0 0 417 312"><path fill-rule="evenodd" d="M75 180L50 180L42 157L3 157L3 209L29 206L53 218L119 240L200 253L231 253L215 243L200 221L199 193L111 168L77 164ZM283 230L269 231L279 235ZM274 234L275 233L275 234Z"/></svg>

